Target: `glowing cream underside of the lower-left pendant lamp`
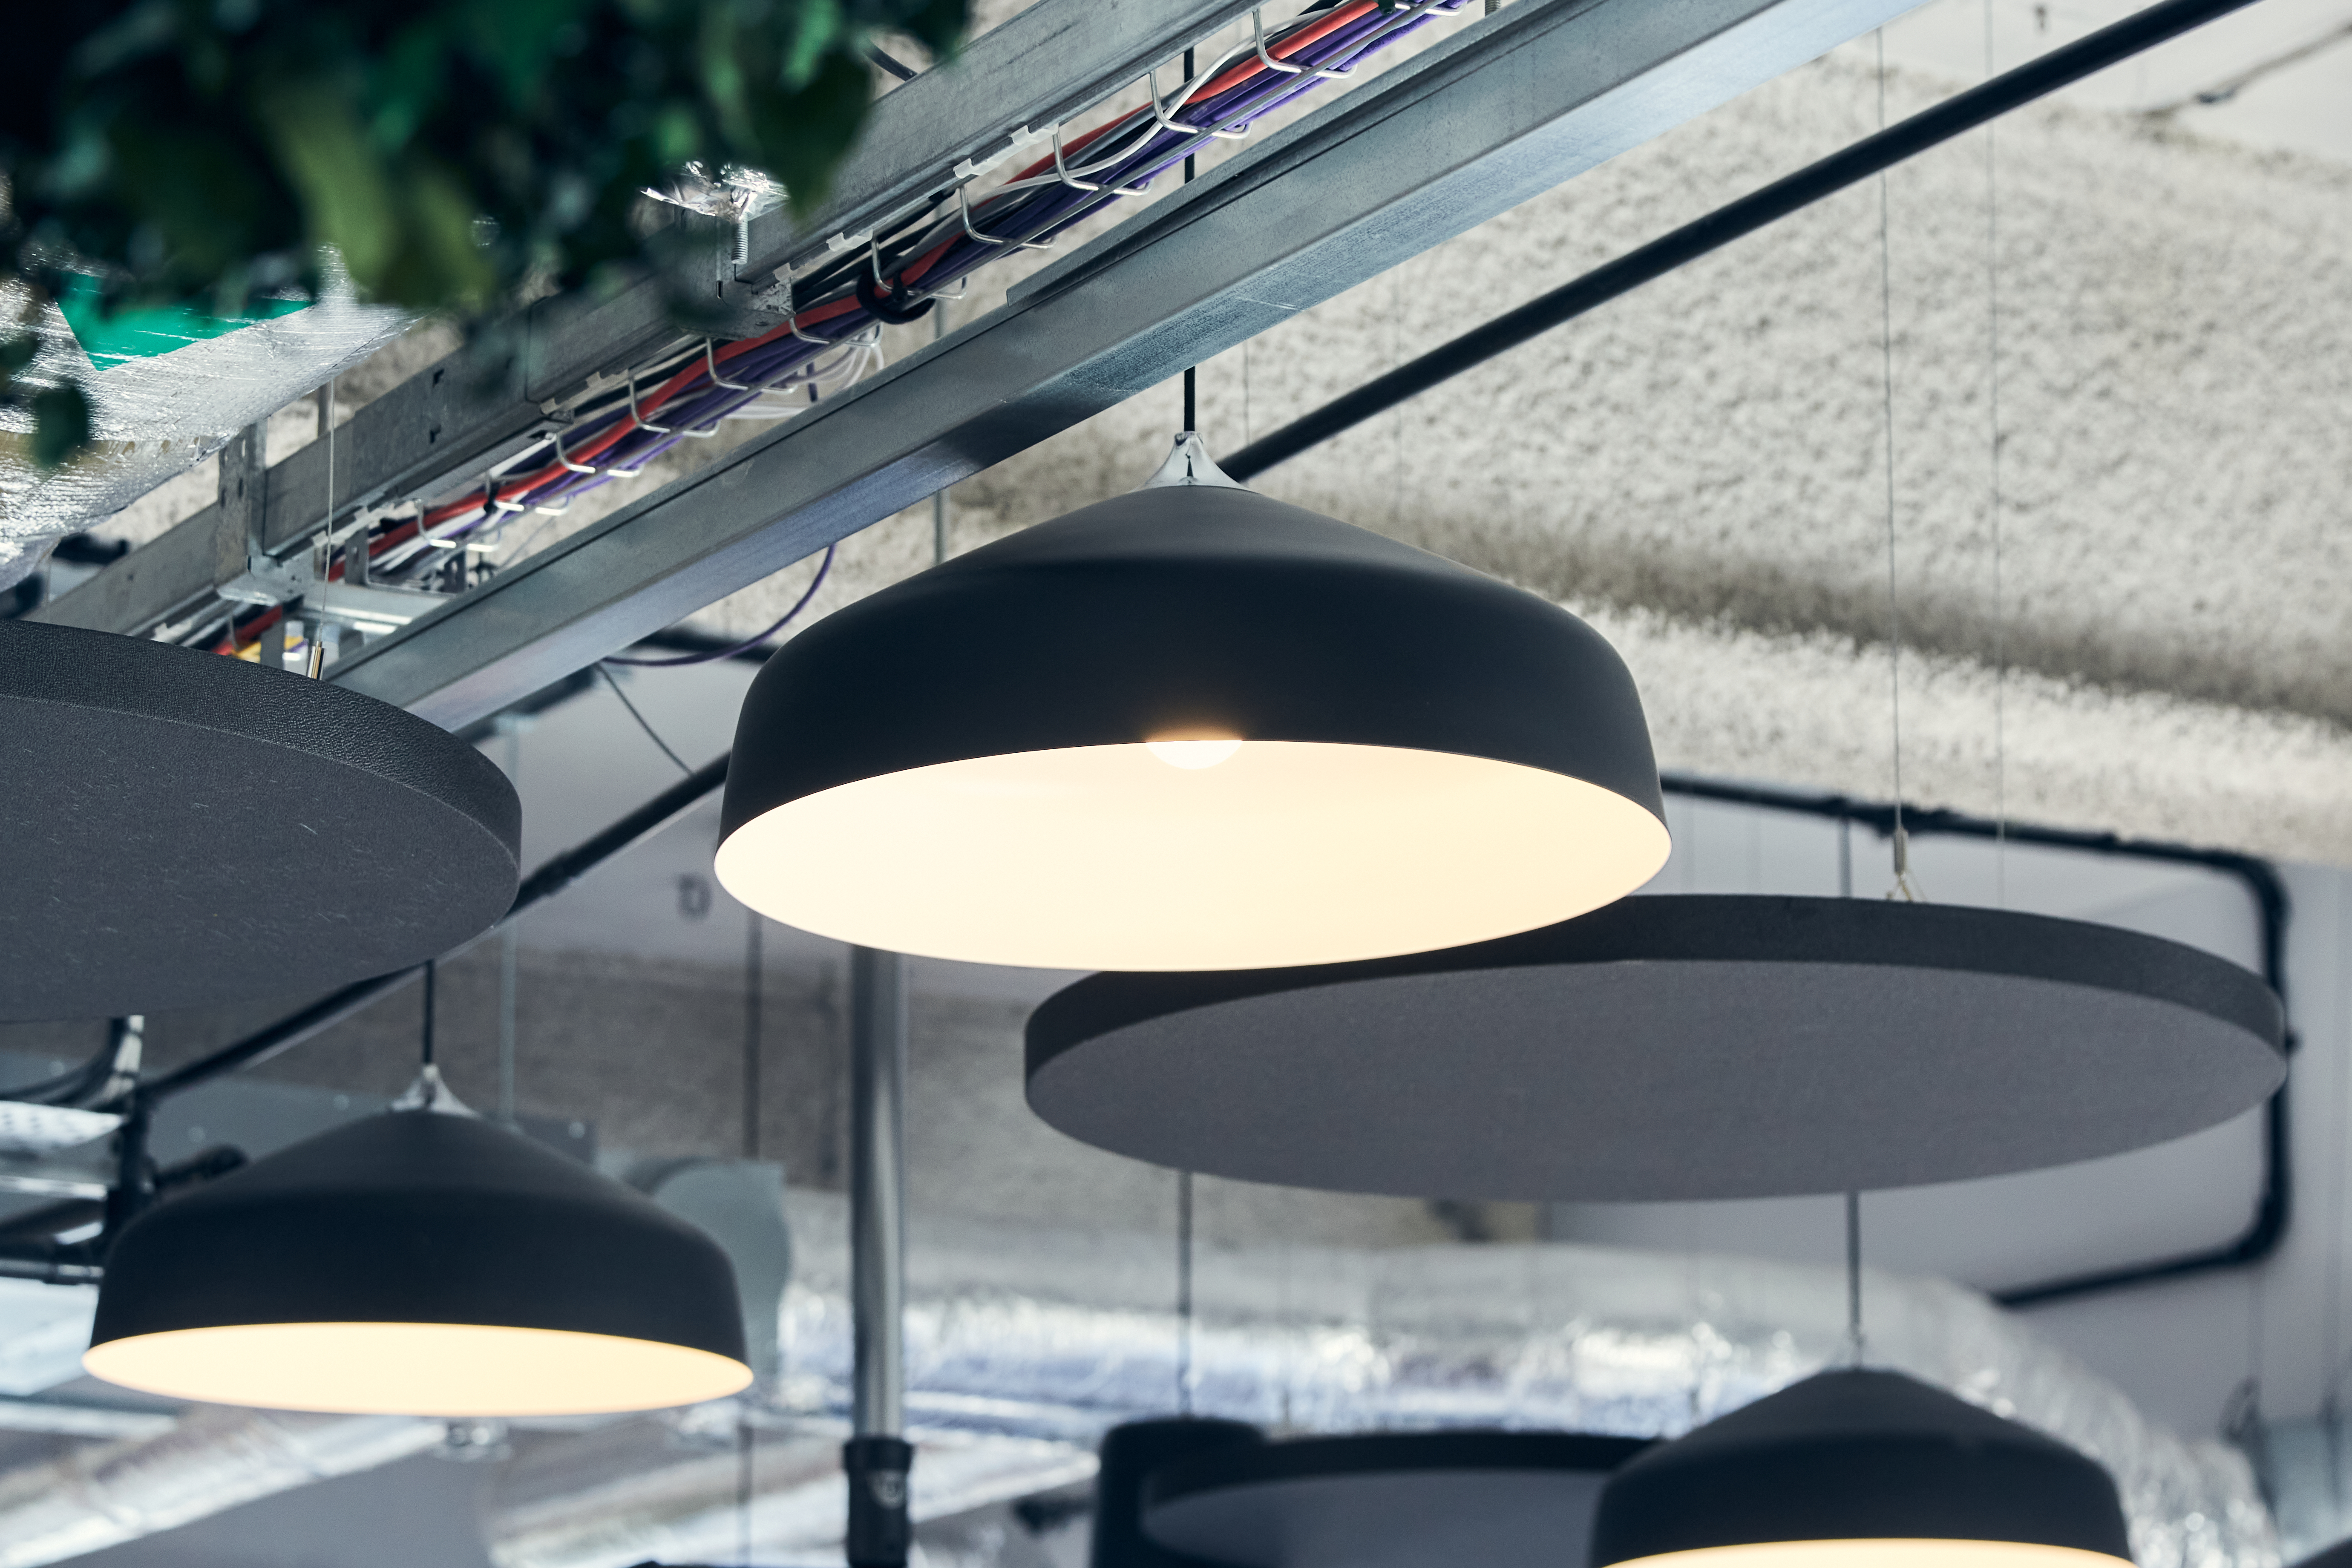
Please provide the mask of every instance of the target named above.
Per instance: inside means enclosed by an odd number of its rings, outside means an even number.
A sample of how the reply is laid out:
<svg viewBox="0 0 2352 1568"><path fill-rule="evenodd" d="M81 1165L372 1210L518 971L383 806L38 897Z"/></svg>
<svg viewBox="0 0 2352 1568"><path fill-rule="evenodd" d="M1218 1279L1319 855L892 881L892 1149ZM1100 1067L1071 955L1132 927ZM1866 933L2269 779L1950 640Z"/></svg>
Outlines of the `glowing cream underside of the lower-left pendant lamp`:
<svg viewBox="0 0 2352 1568"><path fill-rule="evenodd" d="M82 1371L167 1399L339 1415L661 1410L750 1385L729 1356L475 1324L238 1324L92 1345Z"/></svg>

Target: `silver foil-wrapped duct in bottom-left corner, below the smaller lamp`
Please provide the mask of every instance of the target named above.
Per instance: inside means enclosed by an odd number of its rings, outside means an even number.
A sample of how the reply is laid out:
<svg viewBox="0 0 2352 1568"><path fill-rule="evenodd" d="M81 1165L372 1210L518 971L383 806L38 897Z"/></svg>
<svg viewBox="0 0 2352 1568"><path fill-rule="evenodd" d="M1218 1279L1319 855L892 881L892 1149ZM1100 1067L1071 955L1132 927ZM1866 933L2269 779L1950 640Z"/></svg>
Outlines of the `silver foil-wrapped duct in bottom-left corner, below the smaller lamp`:
<svg viewBox="0 0 2352 1568"><path fill-rule="evenodd" d="M423 1453L442 1425L402 1415L198 1408L162 1436L0 1472L0 1568L33 1568L240 1502Z"/></svg>

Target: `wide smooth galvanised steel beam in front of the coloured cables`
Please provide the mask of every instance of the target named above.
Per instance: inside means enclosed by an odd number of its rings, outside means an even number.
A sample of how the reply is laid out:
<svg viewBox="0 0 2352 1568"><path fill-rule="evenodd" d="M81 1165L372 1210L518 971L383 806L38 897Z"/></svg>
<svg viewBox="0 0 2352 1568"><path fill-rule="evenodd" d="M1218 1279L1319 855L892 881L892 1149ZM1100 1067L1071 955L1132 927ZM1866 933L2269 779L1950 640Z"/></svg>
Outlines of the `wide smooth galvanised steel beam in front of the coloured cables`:
<svg viewBox="0 0 2352 1568"><path fill-rule="evenodd" d="M1519 0L334 679L468 724L1910 5Z"/></svg>

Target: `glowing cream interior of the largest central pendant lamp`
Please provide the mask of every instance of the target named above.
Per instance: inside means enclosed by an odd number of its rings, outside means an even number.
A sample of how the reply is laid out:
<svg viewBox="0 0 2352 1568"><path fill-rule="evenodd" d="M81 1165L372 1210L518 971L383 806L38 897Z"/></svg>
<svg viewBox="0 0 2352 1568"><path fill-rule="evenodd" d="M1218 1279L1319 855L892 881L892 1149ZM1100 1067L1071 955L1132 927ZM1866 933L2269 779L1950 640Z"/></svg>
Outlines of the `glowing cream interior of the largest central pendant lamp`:
<svg viewBox="0 0 2352 1568"><path fill-rule="evenodd" d="M821 790L736 827L717 877L762 914L866 947L1265 969L1545 926L1635 891L1665 853L1637 802L1512 762L1167 736Z"/></svg>

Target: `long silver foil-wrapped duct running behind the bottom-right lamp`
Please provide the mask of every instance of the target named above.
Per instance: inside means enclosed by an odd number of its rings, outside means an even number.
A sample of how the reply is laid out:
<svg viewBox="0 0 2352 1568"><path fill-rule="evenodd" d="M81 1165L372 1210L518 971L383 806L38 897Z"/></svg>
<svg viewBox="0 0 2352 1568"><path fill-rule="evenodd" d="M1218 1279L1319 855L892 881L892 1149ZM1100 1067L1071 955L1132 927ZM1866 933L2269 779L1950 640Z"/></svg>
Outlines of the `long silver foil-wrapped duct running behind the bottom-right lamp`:
<svg viewBox="0 0 2352 1568"><path fill-rule="evenodd" d="M842 1206L793 1201L786 1403L847 1408ZM1176 1406L1164 1237L917 1222L908 1420L1091 1443ZM1301 1432L1552 1427L1675 1436L1842 1354L1844 1274L1590 1246L1202 1248L1192 1408ZM2234 1448L2183 1441L2020 1316L1865 1276L1867 1361L2060 1436L2114 1472L2140 1568L2277 1568Z"/></svg>

